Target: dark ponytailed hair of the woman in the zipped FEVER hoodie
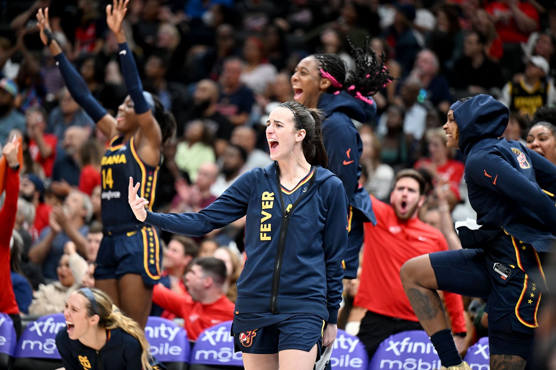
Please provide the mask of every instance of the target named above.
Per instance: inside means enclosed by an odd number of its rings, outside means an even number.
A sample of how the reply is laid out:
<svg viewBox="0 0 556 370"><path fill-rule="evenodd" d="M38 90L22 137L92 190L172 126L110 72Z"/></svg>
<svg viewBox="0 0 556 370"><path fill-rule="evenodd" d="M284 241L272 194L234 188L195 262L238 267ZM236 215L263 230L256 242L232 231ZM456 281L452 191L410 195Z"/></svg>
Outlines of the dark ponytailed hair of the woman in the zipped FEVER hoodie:
<svg viewBox="0 0 556 370"><path fill-rule="evenodd" d="M322 141L322 121L324 114L320 109L307 108L295 100L288 100L286 105L296 117L292 119L296 130L305 130L303 139L303 155L311 165L328 168L328 155ZM280 107L280 105L278 107Z"/></svg>

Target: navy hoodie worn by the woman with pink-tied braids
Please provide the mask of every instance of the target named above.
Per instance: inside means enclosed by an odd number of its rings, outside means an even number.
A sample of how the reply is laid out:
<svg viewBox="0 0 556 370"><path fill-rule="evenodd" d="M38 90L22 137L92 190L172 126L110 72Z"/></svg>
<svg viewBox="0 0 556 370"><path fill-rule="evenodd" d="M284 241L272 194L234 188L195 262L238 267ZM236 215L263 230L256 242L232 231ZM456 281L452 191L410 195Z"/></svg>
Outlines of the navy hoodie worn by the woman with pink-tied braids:
<svg viewBox="0 0 556 370"><path fill-rule="evenodd" d="M372 119L376 114L376 103L365 103L342 90L337 95L321 94L317 107L324 111L326 118L322 121L322 136L328 154L328 168L342 180L349 204L363 213L365 221L376 225L369 193L358 183L363 142L351 122L351 118L359 122Z"/></svg>

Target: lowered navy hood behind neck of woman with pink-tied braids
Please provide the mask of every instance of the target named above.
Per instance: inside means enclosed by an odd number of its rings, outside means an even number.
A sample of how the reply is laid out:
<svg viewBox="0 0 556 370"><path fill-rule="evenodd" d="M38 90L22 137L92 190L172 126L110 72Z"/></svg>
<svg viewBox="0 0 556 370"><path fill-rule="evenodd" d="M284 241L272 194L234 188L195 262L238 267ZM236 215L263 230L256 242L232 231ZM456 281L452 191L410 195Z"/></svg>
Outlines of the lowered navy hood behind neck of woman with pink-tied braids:
<svg viewBox="0 0 556 370"><path fill-rule="evenodd" d="M328 118L335 111L345 113L349 118L361 123L367 122L376 114L376 103L372 98L368 98L373 104L351 96L346 90L341 90L339 94L321 94L317 108L324 111Z"/></svg>

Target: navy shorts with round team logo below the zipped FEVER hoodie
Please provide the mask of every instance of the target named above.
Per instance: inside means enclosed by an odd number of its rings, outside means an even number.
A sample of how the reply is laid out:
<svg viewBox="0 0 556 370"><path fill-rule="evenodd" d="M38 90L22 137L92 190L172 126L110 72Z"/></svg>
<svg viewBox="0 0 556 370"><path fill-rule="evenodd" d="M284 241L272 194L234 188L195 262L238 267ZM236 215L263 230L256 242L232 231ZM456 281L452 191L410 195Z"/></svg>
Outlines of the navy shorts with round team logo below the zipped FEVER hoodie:
<svg viewBox="0 0 556 370"><path fill-rule="evenodd" d="M262 328L234 334L235 352L274 354L284 349L309 352L317 345L320 358L325 321L310 314L295 315Z"/></svg>

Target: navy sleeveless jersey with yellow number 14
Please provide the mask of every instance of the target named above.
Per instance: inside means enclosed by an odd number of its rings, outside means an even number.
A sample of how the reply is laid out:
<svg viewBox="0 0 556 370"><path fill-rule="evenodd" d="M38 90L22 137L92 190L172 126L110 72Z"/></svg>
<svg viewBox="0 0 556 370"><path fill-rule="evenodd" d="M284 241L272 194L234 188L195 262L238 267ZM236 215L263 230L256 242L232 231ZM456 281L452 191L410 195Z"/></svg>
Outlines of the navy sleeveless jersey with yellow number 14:
<svg viewBox="0 0 556 370"><path fill-rule="evenodd" d="M106 232L132 230L141 225L127 200L130 176L134 185L141 183L137 194L149 201L148 210L152 210L155 201L159 167L155 168L141 161L133 138L128 143L122 141L123 136L113 138L101 161L101 214Z"/></svg>

